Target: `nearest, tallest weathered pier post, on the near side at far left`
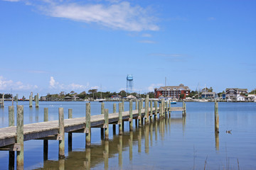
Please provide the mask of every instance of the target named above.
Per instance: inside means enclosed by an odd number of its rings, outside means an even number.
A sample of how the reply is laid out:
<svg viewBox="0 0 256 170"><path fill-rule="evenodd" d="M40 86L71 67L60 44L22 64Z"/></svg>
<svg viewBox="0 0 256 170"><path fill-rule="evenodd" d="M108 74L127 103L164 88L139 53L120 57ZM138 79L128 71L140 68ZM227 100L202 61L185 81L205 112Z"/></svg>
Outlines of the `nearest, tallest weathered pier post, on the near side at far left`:
<svg viewBox="0 0 256 170"><path fill-rule="evenodd" d="M16 168L24 168L24 136L23 136L23 106L18 106L17 108L17 143L21 145L21 150L17 151L16 155Z"/></svg>

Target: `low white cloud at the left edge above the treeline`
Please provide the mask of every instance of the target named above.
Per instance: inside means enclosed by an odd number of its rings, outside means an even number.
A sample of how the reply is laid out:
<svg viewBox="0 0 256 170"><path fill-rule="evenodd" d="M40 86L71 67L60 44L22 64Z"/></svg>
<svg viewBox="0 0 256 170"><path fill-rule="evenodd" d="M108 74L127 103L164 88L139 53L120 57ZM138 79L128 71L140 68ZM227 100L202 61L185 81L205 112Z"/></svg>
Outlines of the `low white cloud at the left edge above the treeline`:
<svg viewBox="0 0 256 170"><path fill-rule="evenodd" d="M0 90L33 90L38 89L37 85L23 84L21 81L12 81L0 76Z"/></svg>

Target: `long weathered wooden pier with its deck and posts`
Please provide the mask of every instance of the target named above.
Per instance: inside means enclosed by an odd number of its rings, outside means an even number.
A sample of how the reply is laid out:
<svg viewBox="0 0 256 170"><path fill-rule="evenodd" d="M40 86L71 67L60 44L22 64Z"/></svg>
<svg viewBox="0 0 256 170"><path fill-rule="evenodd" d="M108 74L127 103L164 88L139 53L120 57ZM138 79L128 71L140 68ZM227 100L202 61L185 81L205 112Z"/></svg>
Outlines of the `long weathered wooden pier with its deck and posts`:
<svg viewBox="0 0 256 170"><path fill-rule="evenodd" d="M145 108L143 108L143 102ZM86 103L86 116L83 118L72 118L72 109L68 111L68 119L64 120L63 108L59 108L59 120L48 121L48 108L44 110L44 121L42 123L32 123L23 125L23 106L17 108L17 125L14 126L14 106L9 106L9 127L0 128L0 150L9 151L9 169L14 168L14 152L16 151L17 169L23 169L23 142L27 140L43 140L44 159L48 157L48 140L59 140L59 158L65 157L65 132L68 132L68 146L72 147L72 133L85 133L86 147L91 145L91 128L102 128L102 139L108 140L109 124L113 124L115 132L116 125L119 125L119 135L124 130L124 121L129 122L132 131L133 119L139 128L143 123L148 124L159 118L168 118L171 111L182 111L186 116L186 103L183 107L171 107L171 104L161 101L157 106L156 101L149 101L147 96L145 101L136 101L136 110L132 110L132 102L129 103L129 111L124 111L124 103L119 103L119 111L116 112L116 105L113 106L114 113L108 113L108 109L102 107L102 114L92 115L90 113L90 103ZM150 105L149 105L150 103ZM139 106L139 107L137 107ZM154 118L153 118L154 116ZM139 121L137 121L139 120Z"/></svg>

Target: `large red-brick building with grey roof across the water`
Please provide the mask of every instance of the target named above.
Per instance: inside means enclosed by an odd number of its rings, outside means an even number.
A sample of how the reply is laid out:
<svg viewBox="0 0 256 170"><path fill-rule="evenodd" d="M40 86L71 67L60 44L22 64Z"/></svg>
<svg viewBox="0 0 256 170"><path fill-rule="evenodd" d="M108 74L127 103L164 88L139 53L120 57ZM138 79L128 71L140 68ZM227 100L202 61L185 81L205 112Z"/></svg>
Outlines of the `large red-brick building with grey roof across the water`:
<svg viewBox="0 0 256 170"><path fill-rule="evenodd" d="M161 86L159 89L154 89L155 98L164 96L164 98L180 98L181 94L184 94L183 98L186 98L190 94L191 90L188 86L180 84L179 86Z"/></svg>

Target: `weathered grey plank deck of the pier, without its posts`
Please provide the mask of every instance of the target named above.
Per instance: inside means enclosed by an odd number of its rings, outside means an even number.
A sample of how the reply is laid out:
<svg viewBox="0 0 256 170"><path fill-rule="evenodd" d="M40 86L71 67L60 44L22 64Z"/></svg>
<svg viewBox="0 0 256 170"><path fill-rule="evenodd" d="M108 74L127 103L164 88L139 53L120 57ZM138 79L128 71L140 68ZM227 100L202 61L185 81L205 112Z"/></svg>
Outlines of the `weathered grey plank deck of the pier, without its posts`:
<svg viewBox="0 0 256 170"><path fill-rule="evenodd" d="M149 108L150 111L150 108ZM155 108L152 109L155 111ZM159 111L159 108L158 108ZM182 107L171 108L171 111L183 111ZM132 111L133 118L139 116L138 110ZM142 116L145 115L145 109L142 109ZM118 122L118 113L109 114L109 123ZM122 119L129 119L129 111L122 113ZM91 116L91 128L100 128L104 125L104 115L92 115ZM85 117L82 118L70 118L64 120L65 132L73 132L76 130L82 130L86 127ZM50 135L58 135L58 120L52 120L42 123L31 123L23 126L24 141L26 140L37 140ZM0 128L0 147L6 145L12 145L16 142L16 126L7 128Z"/></svg>

